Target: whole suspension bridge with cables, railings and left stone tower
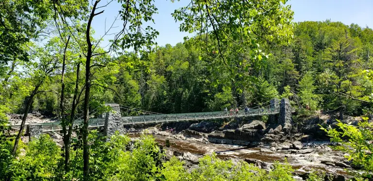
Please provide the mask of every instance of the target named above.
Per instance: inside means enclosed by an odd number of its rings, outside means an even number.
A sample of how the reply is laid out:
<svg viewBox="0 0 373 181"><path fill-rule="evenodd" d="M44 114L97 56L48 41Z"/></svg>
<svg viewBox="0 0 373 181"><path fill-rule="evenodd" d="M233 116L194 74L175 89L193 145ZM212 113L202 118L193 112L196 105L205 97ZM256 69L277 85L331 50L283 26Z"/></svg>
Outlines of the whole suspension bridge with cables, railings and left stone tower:
<svg viewBox="0 0 373 181"><path fill-rule="evenodd" d="M273 101L274 100L274 101ZM167 123L167 122L181 122L181 121L212 121L218 119L229 119L237 117L253 117L253 116L263 116L263 115L277 115L280 114L280 100L273 99L267 103L263 103L260 106L248 108L246 110L227 110L227 111L214 111L214 112L196 112L196 113L179 113L179 114L161 114L151 111L145 111L137 108L132 108L128 106L122 106L118 104L107 104L107 106L113 107L113 110L106 115L103 114L101 118L91 118L88 121L88 128L101 128L108 124L107 117L111 115L116 116L116 121L114 128L121 129L125 125L136 125L136 124L156 124L156 123ZM282 102L282 101L281 101ZM265 105L266 104L266 105ZM281 103L282 104L282 103ZM289 104L288 104L289 105ZM289 106L288 106L289 107ZM289 107L291 109L291 107ZM142 116L123 116L126 113L137 112L138 114L148 114ZM293 112L294 110L290 110ZM90 111L90 115L95 115L97 112L95 110ZM110 122L110 121L109 121ZM74 121L73 127L80 126L83 124L83 120L78 118ZM38 124L26 124L29 132L33 129L32 126L38 128L37 132L48 133L48 132L59 132L62 130L61 122L46 122ZM17 130L20 125L11 125L12 129ZM116 126L119 126L116 128ZM107 127L107 125L106 125ZM31 128L31 129L30 129Z"/></svg>

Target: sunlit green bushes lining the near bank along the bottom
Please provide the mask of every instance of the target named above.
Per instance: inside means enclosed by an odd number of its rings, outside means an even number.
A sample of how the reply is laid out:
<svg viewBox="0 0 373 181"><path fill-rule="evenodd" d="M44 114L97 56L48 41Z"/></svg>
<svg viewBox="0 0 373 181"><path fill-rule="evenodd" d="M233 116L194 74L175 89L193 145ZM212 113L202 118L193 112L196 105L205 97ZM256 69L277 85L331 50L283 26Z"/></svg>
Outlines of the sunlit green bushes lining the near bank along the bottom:
<svg viewBox="0 0 373 181"><path fill-rule="evenodd" d="M275 163L269 174L246 162L233 164L215 154L200 159L197 168L188 172L176 157L165 161L165 153L152 136L131 141L128 136L112 136L110 141L97 132L89 135L90 176L94 181L291 181L289 165ZM82 179L81 143L74 143L71 170L64 174L59 162L62 151L48 135L42 135L25 146L17 158L11 158L7 174L12 181ZM9 148L11 150L11 147ZM9 151L10 151L9 150ZM3 159L5 157L1 157ZM11 164L10 164L11 163Z"/></svg>

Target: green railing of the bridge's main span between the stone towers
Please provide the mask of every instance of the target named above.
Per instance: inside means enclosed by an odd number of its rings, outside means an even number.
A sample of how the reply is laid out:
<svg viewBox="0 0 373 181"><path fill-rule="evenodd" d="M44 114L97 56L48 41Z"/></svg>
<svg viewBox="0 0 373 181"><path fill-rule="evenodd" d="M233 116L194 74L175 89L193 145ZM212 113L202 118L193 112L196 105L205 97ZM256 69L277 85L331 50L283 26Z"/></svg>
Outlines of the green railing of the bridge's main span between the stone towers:
<svg viewBox="0 0 373 181"><path fill-rule="evenodd" d="M224 119L230 117L246 117L246 116L259 116L271 115L279 113L278 109L263 108L251 109L249 111L216 111L216 112L199 112L199 113L180 113L180 114L163 114L151 116L132 116L122 117L124 124L139 124L139 123L161 123L161 122L174 122L174 121L199 121L211 119Z"/></svg>

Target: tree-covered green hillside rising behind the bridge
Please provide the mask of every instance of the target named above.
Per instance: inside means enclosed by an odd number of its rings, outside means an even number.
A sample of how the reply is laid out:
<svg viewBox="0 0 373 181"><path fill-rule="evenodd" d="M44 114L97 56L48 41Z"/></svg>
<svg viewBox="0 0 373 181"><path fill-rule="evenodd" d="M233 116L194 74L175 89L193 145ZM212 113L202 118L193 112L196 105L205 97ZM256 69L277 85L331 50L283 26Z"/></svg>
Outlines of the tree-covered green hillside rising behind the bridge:
<svg viewBox="0 0 373 181"><path fill-rule="evenodd" d="M203 112L258 106L272 98L288 97L296 107L308 105L310 110L305 114L320 109L346 115L372 111L372 81L367 74L373 50L370 28L329 20L297 23L289 45L265 47L271 55L259 69L249 65L248 71L243 71L243 66L237 65L237 71L251 81L231 77L225 65L215 62L219 55L203 52L191 43L161 46L139 60L127 55L113 58L108 67L94 74L101 80L95 82L100 86L92 92L92 108L118 103L158 113ZM5 68L9 71L11 67ZM84 72L80 74L82 77ZM71 67L66 76L74 82L76 68ZM51 77L47 89L59 92L58 79ZM72 86L67 88L73 90ZM12 96L10 93L17 93L13 90L5 92ZM23 99L17 98L12 100L12 111L21 112ZM40 93L31 110L56 115L58 102L55 93Z"/></svg>

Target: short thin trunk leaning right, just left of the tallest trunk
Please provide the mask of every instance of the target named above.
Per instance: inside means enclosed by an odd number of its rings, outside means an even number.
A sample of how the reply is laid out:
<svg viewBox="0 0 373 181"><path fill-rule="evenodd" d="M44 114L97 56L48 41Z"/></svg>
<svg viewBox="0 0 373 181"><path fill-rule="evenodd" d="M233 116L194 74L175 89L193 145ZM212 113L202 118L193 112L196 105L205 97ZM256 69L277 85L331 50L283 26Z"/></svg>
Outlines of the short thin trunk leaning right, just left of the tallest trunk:
<svg viewBox="0 0 373 181"><path fill-rule="evenodd" d="M70 137L72 134L72 126L74 123L74 117L75 117L75 109L77 107L77 95L78 95L78 89L79 89L79 69L80 69L80 63L77 65L76 69L76 82L75 82L75 90L74 90L74 97L72 99L72 107L71 107L71 114L70 119L68 122L68 135L66 136L66 139L64 140L65 145L65 169L66 171L69 170L69 162L70 162ZM79 101L79 99L78 99Z"/></svg>

